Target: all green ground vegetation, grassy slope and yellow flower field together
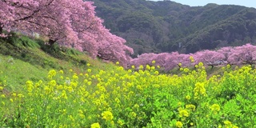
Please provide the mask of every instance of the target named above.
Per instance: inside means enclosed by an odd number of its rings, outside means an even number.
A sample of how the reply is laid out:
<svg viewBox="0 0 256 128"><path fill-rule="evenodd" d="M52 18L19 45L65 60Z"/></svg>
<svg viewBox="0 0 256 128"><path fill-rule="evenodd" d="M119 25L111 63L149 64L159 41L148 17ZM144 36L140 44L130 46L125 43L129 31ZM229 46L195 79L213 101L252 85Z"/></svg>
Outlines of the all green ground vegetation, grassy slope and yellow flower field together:
<svg viewBox="0 0 256 128"><path fill-rule="evenodd" d="M0 40L1 127L256 126L252 66L159 74L155 62L125 70L40 40L9 40Z"/></svg>

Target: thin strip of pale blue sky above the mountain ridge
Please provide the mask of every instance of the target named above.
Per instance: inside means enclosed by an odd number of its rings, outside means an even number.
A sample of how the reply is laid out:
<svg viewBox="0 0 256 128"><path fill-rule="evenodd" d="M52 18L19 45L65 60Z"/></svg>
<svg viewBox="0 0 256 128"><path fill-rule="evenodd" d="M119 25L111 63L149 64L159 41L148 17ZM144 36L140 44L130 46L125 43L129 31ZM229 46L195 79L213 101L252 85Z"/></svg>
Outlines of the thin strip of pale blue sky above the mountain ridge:
<svg viewBox="0 0 256 128"><path fill-rule="evenodd" d="M162 1L162 0L150 0L150 1ZM183 5L189 6L205 6L207 3L217 3L218 5L239 5L256 8L256 0L170 0L178 2Z"/></svg>

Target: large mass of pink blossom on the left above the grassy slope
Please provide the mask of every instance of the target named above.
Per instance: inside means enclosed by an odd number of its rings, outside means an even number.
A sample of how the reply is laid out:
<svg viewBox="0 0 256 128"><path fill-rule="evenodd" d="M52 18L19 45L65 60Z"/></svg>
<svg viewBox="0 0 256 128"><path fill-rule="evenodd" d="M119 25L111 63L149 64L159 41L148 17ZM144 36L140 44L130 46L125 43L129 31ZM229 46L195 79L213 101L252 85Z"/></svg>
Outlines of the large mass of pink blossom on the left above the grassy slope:
<svg viewBox="0 0 256 128"><path fill-rule="evenodd" d="M0 0L0 37L6 36L3 30L36 32L50 45L58 42L126 66L133 50L102 25L94 9L82 0Z"/></svg>

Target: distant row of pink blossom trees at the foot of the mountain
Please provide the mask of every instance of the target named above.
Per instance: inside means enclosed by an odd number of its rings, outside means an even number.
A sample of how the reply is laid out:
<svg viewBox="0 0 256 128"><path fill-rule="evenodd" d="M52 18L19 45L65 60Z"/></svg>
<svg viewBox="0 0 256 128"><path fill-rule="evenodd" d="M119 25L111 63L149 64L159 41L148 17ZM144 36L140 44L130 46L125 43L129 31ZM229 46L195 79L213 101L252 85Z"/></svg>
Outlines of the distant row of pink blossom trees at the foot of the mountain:
<svg viewBox="0 0 256 128"><path fill-rule="evenodd" d="M155 63L152 63L154 61ZM246 44L236 47L222 47L219 50L202 50L194 54L161 53L141 54L130 61L130 66L161 66L165 71L174 67L190 67L203 62L205 66L242 65L256 63L256 46Z"/></svg>

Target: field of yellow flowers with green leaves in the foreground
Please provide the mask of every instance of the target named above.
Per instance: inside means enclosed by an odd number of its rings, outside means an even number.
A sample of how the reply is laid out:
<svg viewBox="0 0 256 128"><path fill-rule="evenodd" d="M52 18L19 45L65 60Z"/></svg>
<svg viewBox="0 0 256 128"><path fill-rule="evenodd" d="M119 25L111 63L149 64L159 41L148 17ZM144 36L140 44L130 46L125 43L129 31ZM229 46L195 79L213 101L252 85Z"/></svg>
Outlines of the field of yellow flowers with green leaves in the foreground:
<svg viewBox="0 0 256 128"><path fill-rule="evenodd" d="M243 66L207 77L203 66L181 75L140 70L50 70L45 79L6 92L1 127L256 127L256 70Z"/></svg>

